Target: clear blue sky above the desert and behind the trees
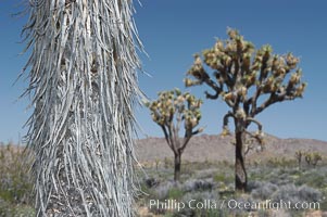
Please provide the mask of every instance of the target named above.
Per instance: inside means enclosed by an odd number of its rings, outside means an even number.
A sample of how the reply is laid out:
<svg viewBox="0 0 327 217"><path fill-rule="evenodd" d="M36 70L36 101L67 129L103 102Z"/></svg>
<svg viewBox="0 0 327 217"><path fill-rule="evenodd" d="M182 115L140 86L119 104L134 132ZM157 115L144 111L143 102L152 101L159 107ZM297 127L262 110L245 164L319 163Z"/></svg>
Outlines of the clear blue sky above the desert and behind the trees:
<svg viewBox="0 0 327 217"><path fill-rule="evenodd" d="M28 80L12 86L28 55L18 55L26 16L13 0L0 0L0 141L16 141L26 129L28 99L15 100ZM183 78L192 64L192 54L210 48L215 37L226 39L227 27L237 28L256 48L269 43L275 53L293 52L301 58L303 79L309 82L303 99L272 105L257 116L264 131L280 138L311 138L327 141L327 2L325 0L141 0L135 1L139 35L150 58L141 55L143 68L152 77L139 75L143 92L154 99L161 90L178 87L204 99L204 87L185 89ZM228 107L221 101L204 100L200 125L216 135ZM143 132L162 137L146 108L136 112ZM139 137L144 137L140 133Z"/></svg>

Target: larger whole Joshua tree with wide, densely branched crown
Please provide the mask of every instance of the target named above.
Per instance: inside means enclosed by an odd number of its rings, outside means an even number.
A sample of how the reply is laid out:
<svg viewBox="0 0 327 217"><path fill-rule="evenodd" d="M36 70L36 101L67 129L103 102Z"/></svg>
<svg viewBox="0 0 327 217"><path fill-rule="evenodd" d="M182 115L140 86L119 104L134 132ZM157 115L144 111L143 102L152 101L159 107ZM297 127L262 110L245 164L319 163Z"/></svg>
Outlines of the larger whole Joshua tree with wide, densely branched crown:
<svg viewBox="0 0 327 217"><path fill-rule="evenodd" d="M262 125L254 117L272 104L301 98L306 84L301 82L299 59L292 53L274 55L271 46L254 50L254 46L235 29L228 29L228 40L218 39L212 49L204 50L203 61L196 55L187 73L196 80L186 78L185 84L187 87L207 85L214 93L205 92L206 98L221 97L230 107L224 116L223 135L229 132L228 119L231 118L236 139L236 189L246 190L244 137L248 135L263 142ZM202 62L214 71L214 79ZM251 124L257 126L254 133L247 130Z"/></svg>

